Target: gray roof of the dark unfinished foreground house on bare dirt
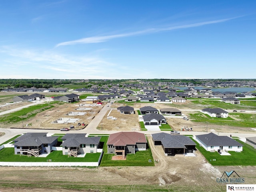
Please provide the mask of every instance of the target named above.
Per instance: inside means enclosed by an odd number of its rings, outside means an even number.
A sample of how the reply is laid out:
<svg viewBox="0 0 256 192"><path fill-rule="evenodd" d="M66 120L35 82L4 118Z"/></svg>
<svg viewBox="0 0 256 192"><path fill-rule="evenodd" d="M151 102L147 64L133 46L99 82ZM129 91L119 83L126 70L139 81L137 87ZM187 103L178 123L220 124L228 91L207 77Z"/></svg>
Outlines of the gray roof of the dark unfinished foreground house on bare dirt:
<svg viewBox="0 0 256 192"><path fill-rule="evenodd" d="M164 148L186 148L185 145L196 145L189 137L184 135L171 135L168 133L152 134L153 141L161 141Z"/></svg>

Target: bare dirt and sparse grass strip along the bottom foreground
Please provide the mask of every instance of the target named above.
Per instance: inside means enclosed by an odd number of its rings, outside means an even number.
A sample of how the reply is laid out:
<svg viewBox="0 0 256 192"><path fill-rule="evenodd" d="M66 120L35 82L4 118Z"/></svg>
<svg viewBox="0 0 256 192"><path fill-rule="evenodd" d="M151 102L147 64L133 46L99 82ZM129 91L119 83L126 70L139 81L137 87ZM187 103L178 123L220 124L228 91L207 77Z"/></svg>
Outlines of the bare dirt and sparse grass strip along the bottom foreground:
<svg viewBox="0 0 256 192"><path fill-rule="evenodd" d="M10 191L226 191L225 184L218 184L217 177L224 171L235 170L246 184L255 184L255 166L213 167L197 151L196 157L164 156L161 146L154 146L149 137L154 167L0 167L1 180L12 186L0 187ZM34 186L34 187L33 187ZM19 187L19 188L18 188Z"/></svg>

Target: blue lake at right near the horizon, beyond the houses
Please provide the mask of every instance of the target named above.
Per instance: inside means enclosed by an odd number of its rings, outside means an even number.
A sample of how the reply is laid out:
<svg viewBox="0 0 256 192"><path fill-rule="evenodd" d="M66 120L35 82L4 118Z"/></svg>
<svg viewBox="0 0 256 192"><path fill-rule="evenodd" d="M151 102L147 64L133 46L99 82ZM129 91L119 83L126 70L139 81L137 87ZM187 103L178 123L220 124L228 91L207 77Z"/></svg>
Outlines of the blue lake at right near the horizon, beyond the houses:
<svg viewBox="0 0 256 192"><path fill-rule="evenodd" d="M180 90L185 90L188 87L177 87ZM194 87L195 89L205 89L207 87ZM252 87L230 87L230 88L210 88L213 92L235 92L235 93L242 93L242 92L252 92L252 91L256 91L256 88L252 88Z"/></svg>

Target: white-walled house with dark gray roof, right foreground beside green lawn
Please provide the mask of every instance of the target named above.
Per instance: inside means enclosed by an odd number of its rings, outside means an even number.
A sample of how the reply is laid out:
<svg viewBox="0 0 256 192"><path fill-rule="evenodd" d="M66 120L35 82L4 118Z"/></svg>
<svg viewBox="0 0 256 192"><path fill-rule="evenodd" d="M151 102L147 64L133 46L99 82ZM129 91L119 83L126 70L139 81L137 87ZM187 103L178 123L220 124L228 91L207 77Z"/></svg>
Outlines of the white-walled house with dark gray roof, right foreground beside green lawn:
<svg viewBox="0 0 256 192"><path fill-rule="evenodd" d="M236 140L228 136L218 136L214 133L208 133L203 135L197 135L196 141L202 145L202 147L211 152L215 152L218 149L223 151L242 151L243 145Z"/></svg>

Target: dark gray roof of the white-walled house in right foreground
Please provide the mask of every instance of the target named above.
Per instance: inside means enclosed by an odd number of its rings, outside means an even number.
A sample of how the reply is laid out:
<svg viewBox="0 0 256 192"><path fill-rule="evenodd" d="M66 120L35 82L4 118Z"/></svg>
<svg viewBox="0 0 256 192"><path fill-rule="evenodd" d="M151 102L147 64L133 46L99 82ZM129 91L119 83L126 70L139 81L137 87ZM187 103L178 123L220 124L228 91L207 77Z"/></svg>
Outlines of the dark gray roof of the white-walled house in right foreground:
<svg viewBox="0 0 256 192"><path fill-rule="evenodd" d="M196 136L206 146L243 146L228 136L218 136L214 133Z"/></svg>

